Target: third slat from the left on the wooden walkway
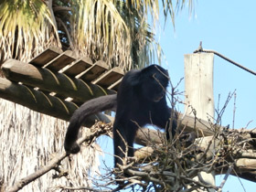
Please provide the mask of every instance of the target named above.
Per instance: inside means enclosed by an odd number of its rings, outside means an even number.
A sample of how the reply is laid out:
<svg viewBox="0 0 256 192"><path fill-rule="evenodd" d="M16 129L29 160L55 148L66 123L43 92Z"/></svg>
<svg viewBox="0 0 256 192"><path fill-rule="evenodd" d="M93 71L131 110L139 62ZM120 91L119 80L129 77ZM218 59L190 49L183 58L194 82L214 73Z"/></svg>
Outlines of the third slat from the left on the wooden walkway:
<svg viewBox="0 0 256 192"><path fill-rule="evenodd" d="M75 77L80 74L82 71L91 68L92 61L89 58L82 58L76 60L69 68L64 69L62 73L69 75L70 77Z"/></svg>

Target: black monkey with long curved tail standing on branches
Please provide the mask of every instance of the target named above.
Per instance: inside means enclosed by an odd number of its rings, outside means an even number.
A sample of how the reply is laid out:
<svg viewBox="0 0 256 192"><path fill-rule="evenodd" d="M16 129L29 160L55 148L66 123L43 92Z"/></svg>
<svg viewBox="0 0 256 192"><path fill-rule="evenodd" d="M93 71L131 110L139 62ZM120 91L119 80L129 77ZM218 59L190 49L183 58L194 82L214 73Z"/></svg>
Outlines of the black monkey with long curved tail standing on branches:
<svg viewBox="0 0 256 192"><path fill-rule="evenodd" d="M126 148L124 142L129 146L128 156L133 156L133 140L139 127L155 124L162 129L169 128L172 110L167 106L165 99L168 80L167 70L157 65L127 72L117 95L101 96L87 101L74 112L66 133L65 150L71 154L80 151L76 140L80 125L86 117L116 107L113 123L114 166L123 165L123 153ZM175 133L176 118L172 122L172 134ZM166 138L169 139L168 130Z"/></svg>

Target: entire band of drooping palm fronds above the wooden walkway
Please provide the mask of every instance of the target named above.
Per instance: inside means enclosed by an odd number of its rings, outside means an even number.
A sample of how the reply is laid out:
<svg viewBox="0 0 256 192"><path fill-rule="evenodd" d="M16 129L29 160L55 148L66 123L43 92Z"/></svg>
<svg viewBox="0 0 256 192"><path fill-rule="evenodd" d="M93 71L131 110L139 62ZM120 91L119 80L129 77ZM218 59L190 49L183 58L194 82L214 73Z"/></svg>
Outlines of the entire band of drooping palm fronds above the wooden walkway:
<svg viewBox="0 0 256 192"><path fill-rule="evenodd" d="M174 23L186 1L162 3L165 18ZM188 4L191 9L192 0ZM31 59L58 46L127 70L148 65L158 48L151 29L159 16L154 0L3 0L0 10L2 60Z"/></svg>

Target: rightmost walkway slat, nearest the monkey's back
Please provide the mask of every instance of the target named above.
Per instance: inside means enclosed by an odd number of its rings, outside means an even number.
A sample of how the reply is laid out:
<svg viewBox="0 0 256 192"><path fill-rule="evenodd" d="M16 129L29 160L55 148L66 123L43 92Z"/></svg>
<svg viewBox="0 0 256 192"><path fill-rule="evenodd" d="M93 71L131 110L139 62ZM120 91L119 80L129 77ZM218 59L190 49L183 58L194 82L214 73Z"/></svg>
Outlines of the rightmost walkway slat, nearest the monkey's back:
<svg viewBox="0 0 256 192"><path fill-rule="evenodd" d="M101 75L99 79L93 80L92 83L101 87L109 87L121 78L123 78L123 69L116 67Z"/></svg>

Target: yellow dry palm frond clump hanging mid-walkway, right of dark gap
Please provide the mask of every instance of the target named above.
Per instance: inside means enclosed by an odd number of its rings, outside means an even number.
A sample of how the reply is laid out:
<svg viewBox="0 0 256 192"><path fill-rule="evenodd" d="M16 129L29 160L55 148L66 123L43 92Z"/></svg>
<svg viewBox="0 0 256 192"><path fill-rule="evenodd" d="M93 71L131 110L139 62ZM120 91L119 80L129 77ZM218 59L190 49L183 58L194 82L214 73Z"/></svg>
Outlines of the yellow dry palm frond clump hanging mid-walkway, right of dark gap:
<svg viewBox="0 0 256 192"><path fill-rule="evenodd" d="M76 0L71 8L70 37L74 49L94 60L103 59L109 65L131 69L132 39L114 3Z"/></svg>

